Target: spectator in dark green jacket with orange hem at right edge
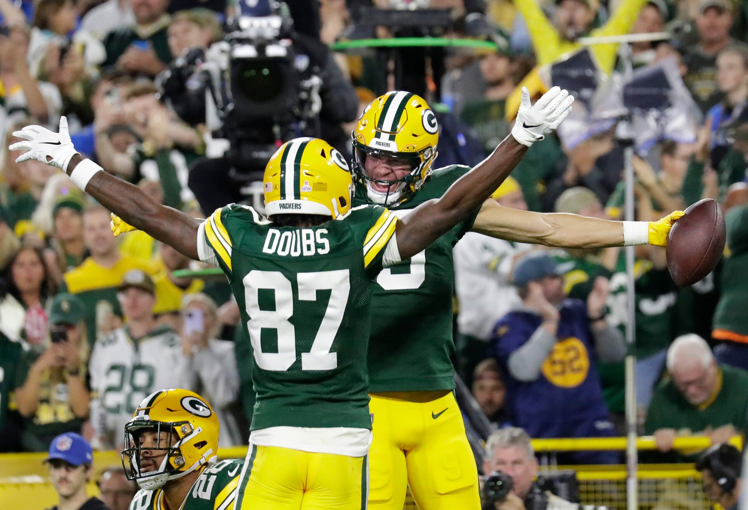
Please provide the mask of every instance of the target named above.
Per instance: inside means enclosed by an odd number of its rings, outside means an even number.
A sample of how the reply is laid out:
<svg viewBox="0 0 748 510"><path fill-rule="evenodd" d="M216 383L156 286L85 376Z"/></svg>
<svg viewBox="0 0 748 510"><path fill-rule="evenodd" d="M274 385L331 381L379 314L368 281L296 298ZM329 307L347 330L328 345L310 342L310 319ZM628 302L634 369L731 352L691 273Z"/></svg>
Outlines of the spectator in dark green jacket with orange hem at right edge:
<svg viewBox="0 0 748 510"><path fill-rule="evenodd" d="M748 206L726 214L727 246L722 271L722 295L714 312L714 348L719 363L748 370Z"/></svg>

